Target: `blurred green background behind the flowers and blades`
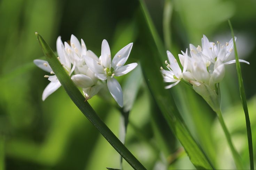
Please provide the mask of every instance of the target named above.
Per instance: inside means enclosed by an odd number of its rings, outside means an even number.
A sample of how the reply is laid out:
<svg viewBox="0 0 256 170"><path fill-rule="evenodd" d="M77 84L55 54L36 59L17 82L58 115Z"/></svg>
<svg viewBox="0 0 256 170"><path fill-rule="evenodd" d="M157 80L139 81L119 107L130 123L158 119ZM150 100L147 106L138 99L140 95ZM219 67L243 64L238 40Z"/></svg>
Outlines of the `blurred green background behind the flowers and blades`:
<svg viewBox="0 0 256 170"><path fill-rule="evenodd" d="M165 45L163 52L170 50L176 56L189 43L201 45L203 34L211 41L228 42L231 33L227 19L231 19L239 57L250 62L250 65L242 63L241 68L255 144L256 1L145 0L145 3ZM0 1L0 169L120 167L119 154L81 114L62 87L42 102L42 91L49 82L43 77L45 72L32 62L43 55L34 32L40 33L54 50L59 35L68 41L74 34L98 56L103 39L108 40L112 55L134 42L127 63L140 62L142 57L154 62L148 50L157 51L157 46L154 43L143 46L152 35L146 35L141 27L142 24L147 27L142 14L138 0ZM195 169L154 102L141 69L136 73L119 79L122 87L130 82L125 81L128 77L141 80L129 115L125 145L147 169ZM220 85L224 120L243 164L249 168L246 124L235 65L226 66L226 76ZM171 91L189 130L215 167L234 168L215 113L185 86ZM121 114L114 100L109 102L95 96L89 103L120 136ZM255 148L256 145L254 153ZM125 161L123 168L132 169Z"/></svg>

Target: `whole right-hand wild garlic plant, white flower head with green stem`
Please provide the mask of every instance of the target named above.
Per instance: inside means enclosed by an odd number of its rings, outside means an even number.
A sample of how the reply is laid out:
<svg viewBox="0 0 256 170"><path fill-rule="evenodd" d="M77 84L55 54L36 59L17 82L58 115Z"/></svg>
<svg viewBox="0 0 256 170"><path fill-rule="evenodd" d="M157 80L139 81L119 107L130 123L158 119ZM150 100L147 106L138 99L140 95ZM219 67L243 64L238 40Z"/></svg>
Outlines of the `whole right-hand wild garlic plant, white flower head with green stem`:
<svg viewBox="0 0 256 170"><path fill-rule="evenodd" d="M236 40L236 37L234 38ZM220 110L219 83L225 76L225 65L235 63L235 60L226 61L234 48L233 39L222 45L219 41L217 43L209 42L207 37L203 35L202 47L200 45L195 47L193 44L190 44L189 48L191 56L188 55L188 50L186 52L181 51L182 54L178 55L180 63L183 66L182 72L177 60L167 51L170 63L166 60L165 64L168 70L164 70L161 67L160 71L163 75L164 82L172 82L172 84L165 88L171 88L181 80L185 80L185 82L193 86L195 92L200 94L212 110L217 113L228 144L231 147L236 166L241 169L242 165L239 155L232 144L230 134L228 133ZM241 59L239 59L239 62L249 64L249 62Z"/></svg>

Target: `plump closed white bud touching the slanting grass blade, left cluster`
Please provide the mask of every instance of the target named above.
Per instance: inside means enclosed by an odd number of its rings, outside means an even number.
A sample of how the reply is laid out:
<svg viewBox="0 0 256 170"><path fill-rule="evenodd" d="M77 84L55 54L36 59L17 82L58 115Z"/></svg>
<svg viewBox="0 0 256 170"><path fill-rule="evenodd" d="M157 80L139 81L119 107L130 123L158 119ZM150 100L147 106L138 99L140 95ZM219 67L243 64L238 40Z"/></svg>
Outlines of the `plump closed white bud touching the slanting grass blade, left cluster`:
<svg viewBox="0 0 256 170"><path fill-rule="evenodd" d="M73 75L71 79L78 87L87 88L94 85L92 79L84 74Z"/></svg>

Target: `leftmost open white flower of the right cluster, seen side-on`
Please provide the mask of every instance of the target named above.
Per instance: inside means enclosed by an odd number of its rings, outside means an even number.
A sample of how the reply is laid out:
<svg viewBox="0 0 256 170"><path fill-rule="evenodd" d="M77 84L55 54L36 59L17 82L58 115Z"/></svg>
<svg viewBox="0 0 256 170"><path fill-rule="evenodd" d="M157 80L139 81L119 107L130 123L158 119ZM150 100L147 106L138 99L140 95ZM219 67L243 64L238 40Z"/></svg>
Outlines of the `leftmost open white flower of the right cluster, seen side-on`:
<svg viewBox="0 0 256 170"><path fill-rule="evenodd" d="M168 88L171 88L171 87L177 85L180 82L181 78L183 77L183 74L186 72L187 64L188 64L188 57L187 57L188 55L187 55L187 50L186 50L185 57L182 58L183 59L183 71L181 72L179 64L178 64L177 60L174 58L174 56L172 55L172 53L170 51L167 51L166 53L167 53L167 57L168 57L170 64L166 60L165 64L167 65L166 67L168 68L168 70L164 70L163 67L161 67L160 71L163 75L164 82L168 82L168 83L175 82L173 84L165 86L165 89L168 89Z"/></svg>

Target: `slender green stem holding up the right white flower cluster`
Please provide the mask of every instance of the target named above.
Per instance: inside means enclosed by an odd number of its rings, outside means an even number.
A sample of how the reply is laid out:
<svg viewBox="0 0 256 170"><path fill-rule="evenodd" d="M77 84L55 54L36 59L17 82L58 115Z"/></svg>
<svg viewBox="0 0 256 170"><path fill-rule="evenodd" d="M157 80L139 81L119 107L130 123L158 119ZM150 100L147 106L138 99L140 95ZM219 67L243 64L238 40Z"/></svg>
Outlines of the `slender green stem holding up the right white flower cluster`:
<svg viewBox="0 0 256 170"><path fill-rule="evenodd" d="M224 119L222 117L222 112L219 109L219 111L216 111L216 113L217 113L220 125L222 126L222 128L224 130L224 133L225 133L225 136L226 136L226 139L227 139L227 143L230 146L230 149L231 149L234 161L235 161L236 168L237 169L243 169L241 158L240 158L238 152L235 150L235 147L234 147L234 145L232 143L232 139L231 139L230 133L228 132L228 129L227 129L227 127L225 125L225 122L224 122Z"/></svg>

